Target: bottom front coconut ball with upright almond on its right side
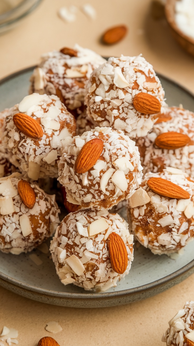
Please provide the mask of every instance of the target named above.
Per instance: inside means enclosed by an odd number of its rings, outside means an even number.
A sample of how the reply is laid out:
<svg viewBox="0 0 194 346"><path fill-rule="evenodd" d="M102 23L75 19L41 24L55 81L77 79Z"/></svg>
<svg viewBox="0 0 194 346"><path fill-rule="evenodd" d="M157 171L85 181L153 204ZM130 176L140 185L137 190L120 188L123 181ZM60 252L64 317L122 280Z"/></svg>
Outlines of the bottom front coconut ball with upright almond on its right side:
<svg viewBox="0 0 194 346"><path fill-rule="evenodd" d="M112 257L111 236L116 239ZM68 214L57 227L50 251L64 285L74 283L85 290L105 291L117 286L117 281L129 273L133 236L118 214L78 210Z"/></svg>

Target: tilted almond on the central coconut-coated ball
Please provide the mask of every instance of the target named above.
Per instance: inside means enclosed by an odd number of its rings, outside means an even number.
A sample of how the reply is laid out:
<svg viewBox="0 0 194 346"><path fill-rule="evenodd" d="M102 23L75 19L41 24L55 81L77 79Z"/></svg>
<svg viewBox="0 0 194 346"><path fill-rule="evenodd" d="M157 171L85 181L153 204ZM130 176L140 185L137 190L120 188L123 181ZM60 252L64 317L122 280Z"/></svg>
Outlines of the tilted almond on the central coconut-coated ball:
<svg viewBox="0 0 194 346"><path fill-rule="evenodd" d="M95 165L103 151L103 141L100 138L93 138L85 143L77 155L74 171L81 174L89 171Z"/></svg>

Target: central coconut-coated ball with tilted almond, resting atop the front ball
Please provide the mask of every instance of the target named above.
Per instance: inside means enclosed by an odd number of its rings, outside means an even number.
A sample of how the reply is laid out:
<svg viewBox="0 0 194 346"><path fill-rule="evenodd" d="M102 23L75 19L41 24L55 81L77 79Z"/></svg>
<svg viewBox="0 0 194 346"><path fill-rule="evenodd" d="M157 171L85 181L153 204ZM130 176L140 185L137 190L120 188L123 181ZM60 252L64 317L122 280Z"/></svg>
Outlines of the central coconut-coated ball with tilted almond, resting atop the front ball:
<svg viewBox="0 0 194 346"><path fill-rule="evenodd" d="M82 208L110 209L128 199L142 178L135 142L110 127L72 138L58 167L67 201Z"/></svg>

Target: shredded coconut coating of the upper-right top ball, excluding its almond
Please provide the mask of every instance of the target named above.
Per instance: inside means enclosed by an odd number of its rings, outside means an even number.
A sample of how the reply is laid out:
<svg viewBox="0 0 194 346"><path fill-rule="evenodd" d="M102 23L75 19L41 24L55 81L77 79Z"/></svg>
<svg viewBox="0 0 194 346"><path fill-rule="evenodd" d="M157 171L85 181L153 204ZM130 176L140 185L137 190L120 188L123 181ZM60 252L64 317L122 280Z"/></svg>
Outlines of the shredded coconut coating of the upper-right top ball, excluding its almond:
<svg viewBox="0 0 194 346"><path fill-rule="evenodd" d="M164 106L164 90L152 65L141 55L111 57L87 84L87 115L96 125L120 128L130 138L146 136L155 118L134 108L133 98L139 92L155 96Z"/></svg>

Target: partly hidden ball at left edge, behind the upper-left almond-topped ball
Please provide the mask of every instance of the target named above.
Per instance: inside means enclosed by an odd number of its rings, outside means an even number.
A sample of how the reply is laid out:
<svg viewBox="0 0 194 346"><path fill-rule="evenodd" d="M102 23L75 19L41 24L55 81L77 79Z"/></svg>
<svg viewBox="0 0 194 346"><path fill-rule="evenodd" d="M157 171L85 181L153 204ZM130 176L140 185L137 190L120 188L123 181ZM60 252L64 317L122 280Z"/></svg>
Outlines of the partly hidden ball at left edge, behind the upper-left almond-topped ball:
<svg viewBox="0 0 194 346"><path fill-rule="evenodd" d="M9 108L6 108L0 112L0 177L9 175L16 171L15 166L13 166L8 160L7 149L2 145L2 137L6 126L6 117L9 115L9 111Z"/></svg>

